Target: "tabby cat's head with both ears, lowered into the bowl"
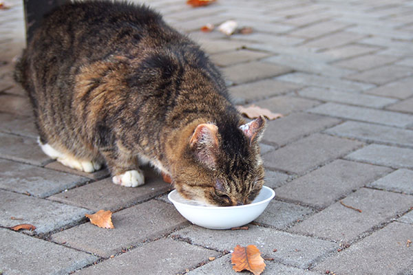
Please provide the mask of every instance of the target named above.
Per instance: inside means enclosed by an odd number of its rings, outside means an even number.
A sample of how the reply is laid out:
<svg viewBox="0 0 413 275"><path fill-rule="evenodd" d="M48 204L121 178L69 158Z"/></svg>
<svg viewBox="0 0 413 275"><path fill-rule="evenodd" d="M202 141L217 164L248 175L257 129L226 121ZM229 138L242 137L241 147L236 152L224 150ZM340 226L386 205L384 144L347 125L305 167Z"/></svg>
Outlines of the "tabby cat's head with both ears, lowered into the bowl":
<svg viewBox="0 0 413 275"><path fill-rule="evenodd" d="M198 124L173 175L176 190L213 206L251 203L264 184L259 146L264 128L263 117L240 126Z"/></svg>

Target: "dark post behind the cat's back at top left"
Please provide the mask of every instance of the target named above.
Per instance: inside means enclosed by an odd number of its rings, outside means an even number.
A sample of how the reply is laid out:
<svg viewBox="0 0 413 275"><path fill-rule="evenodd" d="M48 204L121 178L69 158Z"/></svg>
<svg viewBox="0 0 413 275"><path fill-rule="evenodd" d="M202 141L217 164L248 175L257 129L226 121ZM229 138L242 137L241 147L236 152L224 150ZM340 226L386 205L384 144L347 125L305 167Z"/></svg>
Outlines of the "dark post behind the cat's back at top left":
<svg viewBox="0 0 413 275"><path fill-rule="evenodd" d="M27 43L32 39L43 15L67 1L69 0L23 0Z"/></svg>

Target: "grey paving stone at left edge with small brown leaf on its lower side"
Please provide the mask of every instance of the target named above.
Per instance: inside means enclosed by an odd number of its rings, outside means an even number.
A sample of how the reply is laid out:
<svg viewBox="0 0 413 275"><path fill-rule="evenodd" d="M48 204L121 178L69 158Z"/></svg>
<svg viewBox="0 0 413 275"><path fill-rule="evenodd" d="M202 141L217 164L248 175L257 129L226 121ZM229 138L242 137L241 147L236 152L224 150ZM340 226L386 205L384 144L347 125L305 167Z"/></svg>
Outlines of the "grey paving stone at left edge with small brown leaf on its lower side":
<svg viewBox="0 0 413 275"><path fill-rule="evenodd" d="M26 195L20 195L6 190L0 190L0 225L11 227L20 223L30 223L36 226L33 232L28 234L42 234L74 225L85 219L89 210L74 206L67 206L46 199L39 199ZM12 220L17 217L23 220Z"/></svg>

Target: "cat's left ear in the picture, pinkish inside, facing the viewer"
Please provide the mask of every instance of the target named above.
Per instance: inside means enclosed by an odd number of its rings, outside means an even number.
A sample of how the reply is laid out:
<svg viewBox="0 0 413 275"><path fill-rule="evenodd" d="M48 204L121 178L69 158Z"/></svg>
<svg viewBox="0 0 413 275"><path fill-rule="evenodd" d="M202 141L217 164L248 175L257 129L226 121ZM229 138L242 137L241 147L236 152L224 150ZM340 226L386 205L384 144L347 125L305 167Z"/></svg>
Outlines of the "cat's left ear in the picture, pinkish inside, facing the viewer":
<svg viewBox="0 0 413 275"><path fill-rule="evenodd" d="M189 147L195 153L197 159L208 168L215 168L218 155L218 127L215 124L199 124L191 140Z"/></svg>

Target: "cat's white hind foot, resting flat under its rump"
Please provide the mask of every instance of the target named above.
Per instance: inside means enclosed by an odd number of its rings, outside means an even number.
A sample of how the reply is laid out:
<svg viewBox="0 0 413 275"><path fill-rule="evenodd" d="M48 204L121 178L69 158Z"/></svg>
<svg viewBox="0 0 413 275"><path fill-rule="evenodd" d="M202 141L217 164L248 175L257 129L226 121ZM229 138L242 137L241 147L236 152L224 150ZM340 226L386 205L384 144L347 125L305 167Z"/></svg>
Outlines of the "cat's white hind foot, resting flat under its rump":
<svg viewBox="0 0 413 275"><path fill-rule="evenodd" d="M100 164L100 162L96 162L94 160L77 159L73 155L69 155L67 153L63 153L61 151L56 150L48 143L43 144L40 139L38 139L37 142L39 143L43 153L45 153L52 159L56 159L64 166L84 171L86 173L92 173L102 168L102 164Z"/></svg>

